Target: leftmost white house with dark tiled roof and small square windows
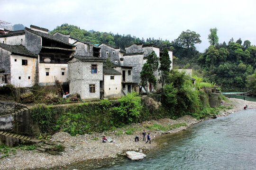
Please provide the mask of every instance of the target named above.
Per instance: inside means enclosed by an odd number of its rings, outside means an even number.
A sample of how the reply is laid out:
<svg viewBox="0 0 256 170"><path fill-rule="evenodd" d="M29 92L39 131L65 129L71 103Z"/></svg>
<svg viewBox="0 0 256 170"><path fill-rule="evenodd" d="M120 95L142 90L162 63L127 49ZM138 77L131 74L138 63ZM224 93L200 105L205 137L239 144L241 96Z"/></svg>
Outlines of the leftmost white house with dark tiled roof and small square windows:
<svg viewBox="0 0 256 170"><path fill-rule="evenodd" d="M0 83L33 86L37 55L22 45L0 43Z"/></svg>

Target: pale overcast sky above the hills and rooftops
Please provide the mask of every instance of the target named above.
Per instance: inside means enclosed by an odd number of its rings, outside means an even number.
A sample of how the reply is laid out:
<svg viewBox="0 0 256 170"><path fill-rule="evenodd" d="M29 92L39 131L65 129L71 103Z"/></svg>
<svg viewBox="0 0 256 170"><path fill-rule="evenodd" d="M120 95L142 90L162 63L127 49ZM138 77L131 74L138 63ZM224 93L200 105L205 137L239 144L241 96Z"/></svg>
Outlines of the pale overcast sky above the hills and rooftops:
<svg viewBox="0 0 256 170"><path fill-rule="evenodd" d="M256 45L256 0L0 0L0 20L50 31L67 23L170 42L189 29L201 35L201 52L216 27L219 42L233 37Z"/></svg>

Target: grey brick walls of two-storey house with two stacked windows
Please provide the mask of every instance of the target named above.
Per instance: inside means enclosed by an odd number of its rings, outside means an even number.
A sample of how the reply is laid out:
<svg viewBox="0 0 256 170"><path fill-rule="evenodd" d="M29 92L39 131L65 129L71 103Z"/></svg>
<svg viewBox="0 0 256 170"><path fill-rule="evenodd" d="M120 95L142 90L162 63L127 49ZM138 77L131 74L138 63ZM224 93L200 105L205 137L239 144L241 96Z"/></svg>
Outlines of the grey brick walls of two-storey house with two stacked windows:
<svg viewBox="0 0 256 170"><path fill-rule="evenodd" d="M97 73L91 73L91 64L97 65ZM103 66L99 61L72 59L68 63L69 90L78 93L81 99L99 99L100 81L103 80ZM89 85L95 85L95 93L90 93Z"/></svg>

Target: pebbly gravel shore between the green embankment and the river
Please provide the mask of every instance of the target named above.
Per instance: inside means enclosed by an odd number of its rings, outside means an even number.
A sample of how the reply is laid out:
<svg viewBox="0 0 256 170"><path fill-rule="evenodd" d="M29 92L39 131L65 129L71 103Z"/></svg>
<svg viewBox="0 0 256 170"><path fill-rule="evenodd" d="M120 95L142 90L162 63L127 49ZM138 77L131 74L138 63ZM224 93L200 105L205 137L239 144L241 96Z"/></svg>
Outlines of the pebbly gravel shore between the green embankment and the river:
<svg viewBox="0 0 256 170"><path fill-rule="evenodd" d="M248 109L256 109L256 102L244 101L242 99L230 98L230 102L222 101L221 105L226 107L233 107L232 109L221 110L217 117L226 116L238 110L243 110L245 103L248 104ZM209 118L210 119L210 118ZM65 146L65 151L62 155L51 155L48 153L37 153L34 151L26 151L17 149L15 155L0 160L0 170L26 170L38 168L60 168L64 165L70 165L73 162L86 161L90 159L104 159L115 158L118 153L123 153L127 150L149 151L157 148L157 143L154 139L156 136L166 133L175 133L191 127L193 124L203 120L197 120L191 116L184 116L182 118L173 119L159 119L157 121L145 121L142 123L131 124L127 127L118 128L118 130L105 132L85 134L79 136L71 136L66 132L58 132L52 136L51 140L61 142ZM154 125L155 123L161 125L172 125L175 123L186 123L186 126L173 128L170 131L149 131L153 141L151 144L142 141L142 131L146 125ZM125 134L127 129L133 128L135 131L132 135ZM102 143L102 136L110 136L114 143ZM139 142L134 141L135 135L139 136Z"/></svg>

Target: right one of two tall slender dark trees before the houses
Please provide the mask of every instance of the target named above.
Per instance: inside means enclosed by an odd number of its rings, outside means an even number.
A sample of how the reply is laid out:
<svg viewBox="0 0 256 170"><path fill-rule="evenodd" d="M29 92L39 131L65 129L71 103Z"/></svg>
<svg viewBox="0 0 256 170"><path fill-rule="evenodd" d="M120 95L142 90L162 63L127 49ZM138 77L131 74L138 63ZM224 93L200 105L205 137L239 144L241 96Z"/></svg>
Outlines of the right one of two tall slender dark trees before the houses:
<svg viewBox="0 0 256 170"><path fill-rule="evenodd" d="M170 73L170 68L171 68L172 61L169 57L169 51L167 48L164 50L164 54L162 55L162 58L160 60L160 67L158 68L159 71L159 83L162 84L162 88L165 84L166 77Z"/></svg>

